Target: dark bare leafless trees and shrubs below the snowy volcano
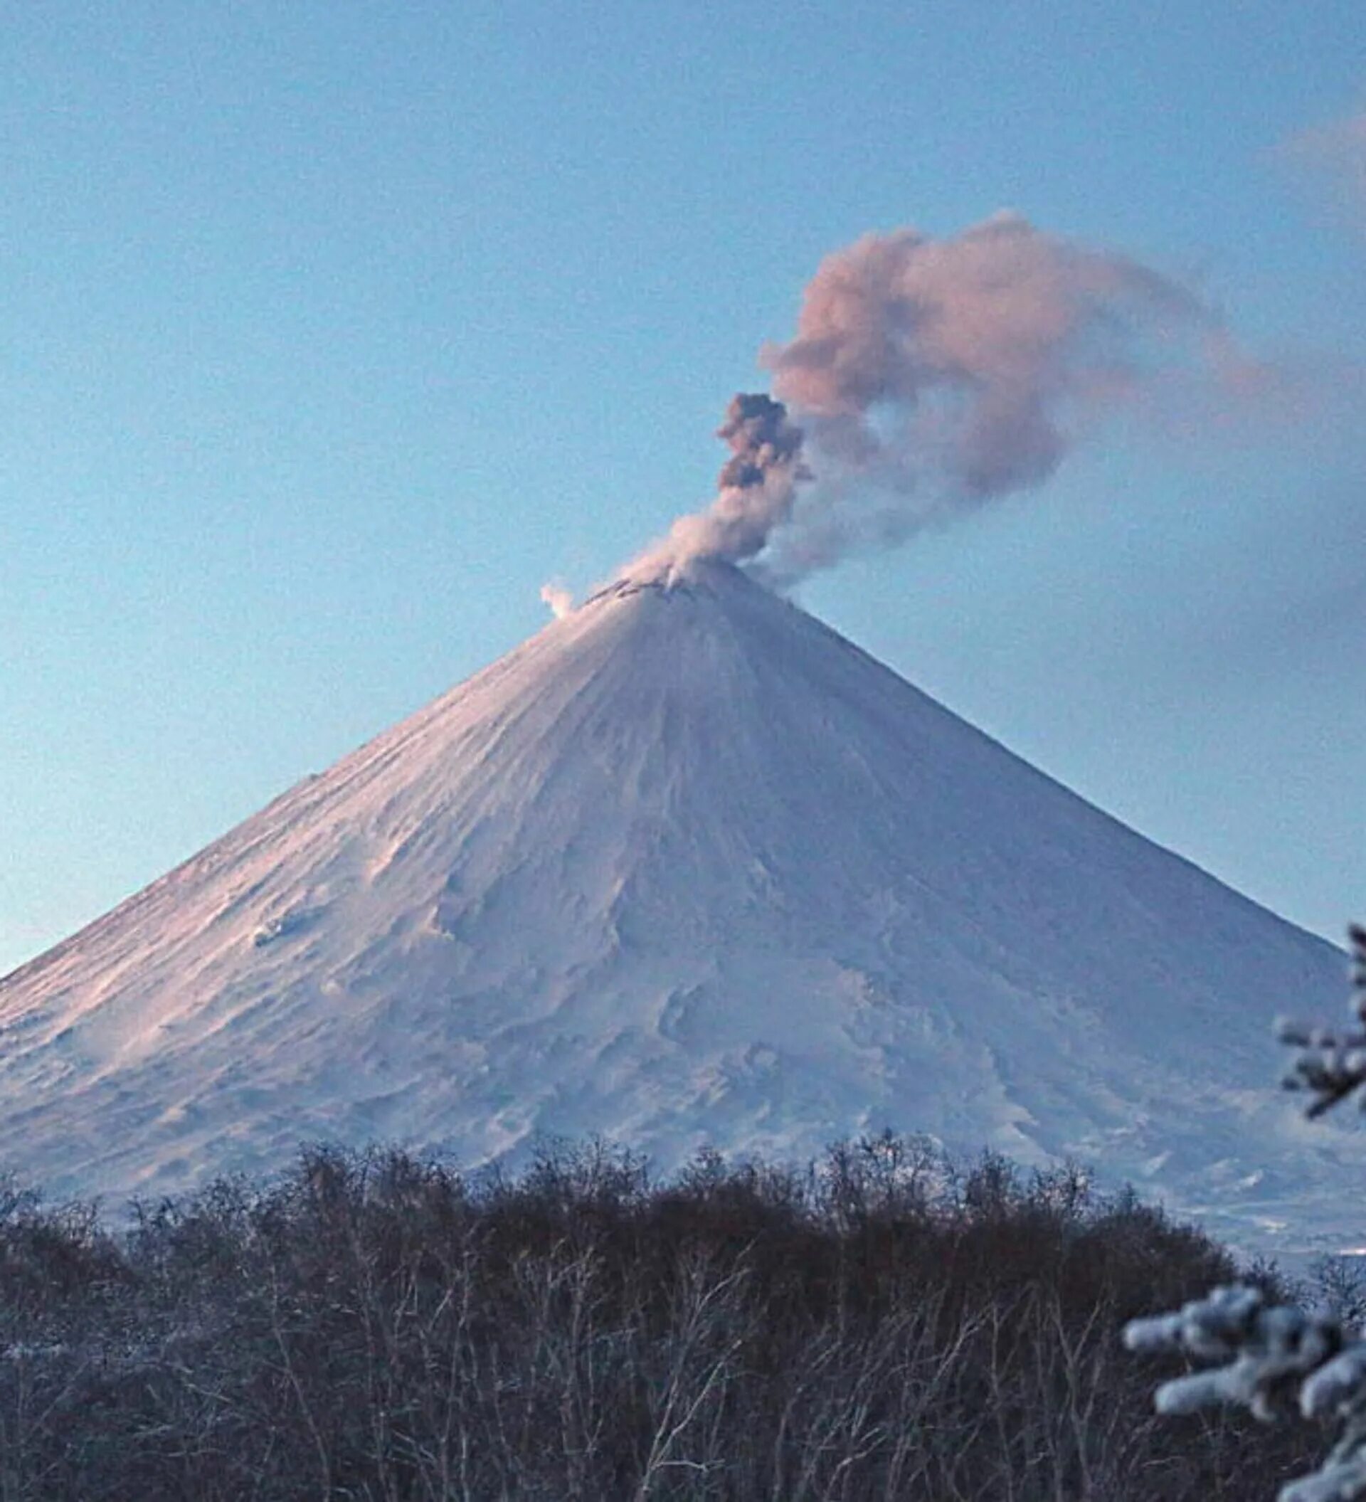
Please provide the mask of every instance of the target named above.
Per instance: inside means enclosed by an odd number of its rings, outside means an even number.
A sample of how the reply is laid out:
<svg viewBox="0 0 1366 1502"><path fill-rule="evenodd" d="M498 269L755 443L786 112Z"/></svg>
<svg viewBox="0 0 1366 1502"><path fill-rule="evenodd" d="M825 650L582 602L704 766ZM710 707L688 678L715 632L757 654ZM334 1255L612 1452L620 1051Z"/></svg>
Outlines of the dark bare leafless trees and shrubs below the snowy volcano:
<svg viewBox="0 0 1366 1502"><path fill-rule="evenodd" d="M1079 1172L892 1137L668 1184L317 1149L117 1235L9 1193L0 1502L1246 1499L1304 1436L1157 1421L1118 1338L1231 1274Z"/></svg>

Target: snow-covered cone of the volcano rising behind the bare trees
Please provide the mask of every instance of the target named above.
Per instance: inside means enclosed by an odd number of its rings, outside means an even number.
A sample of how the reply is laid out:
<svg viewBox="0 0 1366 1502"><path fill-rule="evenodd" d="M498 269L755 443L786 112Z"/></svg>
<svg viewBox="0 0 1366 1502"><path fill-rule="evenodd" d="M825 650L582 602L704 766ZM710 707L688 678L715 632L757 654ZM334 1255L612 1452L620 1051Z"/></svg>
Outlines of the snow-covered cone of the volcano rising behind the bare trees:
<svg viewBox="0 0 1366 1502"><path fill-rule="evenodd" d="M0 981L0 1163L892 1125L1360 1239L1273 1089L1342 957L727 566L614 586ZM1355 1170L1349 1170L1355 1172Z"/></svg>

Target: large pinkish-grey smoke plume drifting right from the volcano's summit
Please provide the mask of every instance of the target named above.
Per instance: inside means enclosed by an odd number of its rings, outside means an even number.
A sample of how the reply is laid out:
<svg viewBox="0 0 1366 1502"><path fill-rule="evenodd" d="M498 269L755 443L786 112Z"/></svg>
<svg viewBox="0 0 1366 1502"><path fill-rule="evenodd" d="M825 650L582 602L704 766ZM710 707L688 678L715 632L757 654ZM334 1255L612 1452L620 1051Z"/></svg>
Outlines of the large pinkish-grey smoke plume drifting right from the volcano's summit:
<svg viewBox="0 0 1366 1502"><path fill-rule="evenodd" d="M836 251L796 338L760 363L773 397L733 398L716 499L627 575L718 557L794 583L1042 484L1105 416L1160 406L1163 386L1252 371L1189 288L1013 213Z"/></svg>

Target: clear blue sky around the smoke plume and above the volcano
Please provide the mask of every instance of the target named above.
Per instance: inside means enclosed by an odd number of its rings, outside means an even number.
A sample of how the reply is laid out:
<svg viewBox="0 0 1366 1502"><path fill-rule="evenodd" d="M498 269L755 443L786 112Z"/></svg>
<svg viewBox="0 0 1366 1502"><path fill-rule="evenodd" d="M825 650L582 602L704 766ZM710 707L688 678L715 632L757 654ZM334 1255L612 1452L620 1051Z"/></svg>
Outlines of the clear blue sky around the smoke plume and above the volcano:
<svg viewBox="0 0 1366 1502"><path fill-rule="evenodd" d="M0 69L0 970L704 503L863 231L1010 207L1325 386L1363 357L1360 0L51 0ZM1102 436L800 599L1339 936L1351 406Z"/></svg>

